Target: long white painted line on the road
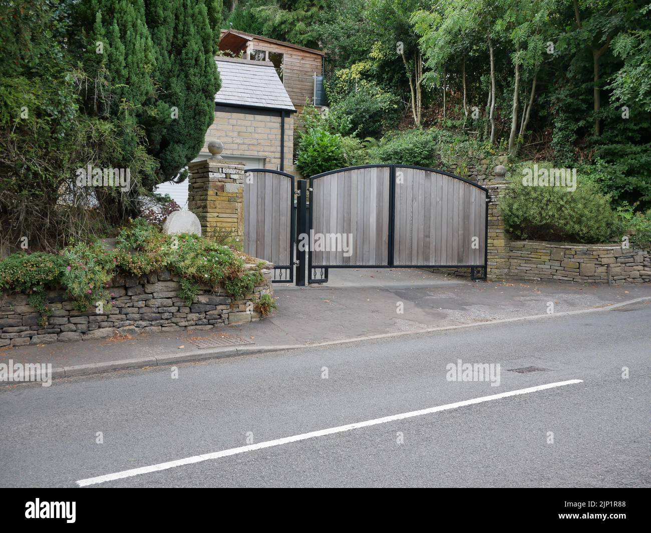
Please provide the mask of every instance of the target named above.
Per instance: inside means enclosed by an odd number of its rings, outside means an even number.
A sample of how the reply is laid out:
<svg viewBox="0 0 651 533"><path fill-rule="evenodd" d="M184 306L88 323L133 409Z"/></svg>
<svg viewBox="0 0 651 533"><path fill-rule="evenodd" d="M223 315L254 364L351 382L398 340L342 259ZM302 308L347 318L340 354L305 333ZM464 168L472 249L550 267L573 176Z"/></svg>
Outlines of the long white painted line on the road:
<svg viewBox="0 0 651 533"><path fill-rule="evenodd" d="M230 455L243 454L245 452L252 452L253 450L261 450L262 448L271 448L274 446L281 446L292 442L305 441L315 437L323 437L324 435L332 435L335 433L342 433L344 431L355 430L358 428L367 428L368 426L376 426L377 424L385 424L386 422L394 422L396 420L404 420L413 417L420 417L422 415L430 415L438 413L439 411L447 411L448 409L456 409L473 404L480 404L482 402L490 402L492 400L499 400L501 398L508 398L509 396L518 396L522 394L535 393L544 391L546 389L553 389L555 387L563 387L564 385L574 385L575 383L582 383L583 380L569 380L566 382L547 383L547 385L536 385L536 387L529 387L528 389L518 389L517 391L510 391L508 393L493 394L490 396L482 396L481 398L473 398L472 400L463 400L462 402L454 402L454 404L445 404L443 406L430 407L427 409L420 409L419 411L409 411L409 413L400 413L399 415L391 415L389 417L376 418L367 420L365 422L355 422L354 424L346 424L345 426L337 426L335 428L327 428L325 430L312 431L300 435L292 435L291 437L283 437L282 439L275 439L273 441L264 441L257 444L248 446L240 446L238 448L230 448L229 450L221 450L221 452L213 452L210 454L195 455L185 459L176 461L168 461L167 463L158 463L157 465L150 465L141 468L133 468L131 470L123 470L113 474L104 474L104 476L97 476L94 478L87 478L77 481L80 487L87 487L89 485L96 485L98 483L105 483L107 481L114 481L122 478L130 478L139 476L141 474L148 474L150 472L158 472L159 470L167 470L183 465L191 465L193 463L201 463L202 461L210 461L212 459L219 459L221 457L228 457Z"/></svg>

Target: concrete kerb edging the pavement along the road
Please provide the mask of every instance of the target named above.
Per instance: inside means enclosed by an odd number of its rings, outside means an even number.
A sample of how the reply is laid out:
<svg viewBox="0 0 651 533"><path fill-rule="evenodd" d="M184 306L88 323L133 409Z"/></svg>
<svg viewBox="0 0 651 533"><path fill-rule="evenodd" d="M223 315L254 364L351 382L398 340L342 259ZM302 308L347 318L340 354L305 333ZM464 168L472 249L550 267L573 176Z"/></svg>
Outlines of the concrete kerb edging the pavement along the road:
<svg viewBox="0 0 651 533"><path fill-rule="evenodd" d="M320 346L333 346L335 344L359 343L362 341L374 341L378 339L391 339L395 337L404 337L406 335L418 335L419 333L433 333L436 331L462 330L466 328L481 328L483 326L493 326L495 324L508 324L509 322L521 322L524 320L540 320L541 318L559 318L570 315L581 315L585 313L599 313L601 311L613 311L626 305L646 302L651 300L651 296L643 296L618 304L604 305L603 307L592 307L591 309L577 309L576 311L563 311L562 313L551 313L544 315L529 315L527 317L501 318L490 322L477 322L475 324L460 324L457 326L441 326L439 328L423 328L421 330L396 331L395 333L381 333L380 335L368 335L367 337L352 337L351 339L340 339L338 341L327 341L325 343L312 344L287 344L279 346L232 346L229 348L220 348L217 350L196 350L184 354L167 354L158 357L141 357L139 359L124 359L121 361L105 361L104 363L92 363L89 365L77 365L74 367L63 367L52 369L52 378L72 378L76 376L90 376L93 374L104 374L106 372L115 372L117 370L133 370L146 367L169 366L175 363L193 363L204 361L206 359L223 359L225 357L236 357L245 355L259 355L270 352L283 352L285 350L298 350L299 348L318 348ZM0 382L1 385L14 383Z"/></svg>

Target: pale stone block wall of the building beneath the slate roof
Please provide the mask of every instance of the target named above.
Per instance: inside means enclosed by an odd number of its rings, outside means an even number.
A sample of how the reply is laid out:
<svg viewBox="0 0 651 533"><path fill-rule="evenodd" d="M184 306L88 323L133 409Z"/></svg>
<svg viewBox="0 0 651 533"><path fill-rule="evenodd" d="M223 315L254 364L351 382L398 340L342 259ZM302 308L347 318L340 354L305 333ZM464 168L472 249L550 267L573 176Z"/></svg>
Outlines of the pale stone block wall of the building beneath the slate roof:
<svg viewBox="0 0 651 533"><path fill-rule="evenodd" d="M225 155L265 157L264 168L278 170L281 162L281 117L249 112L215 111L215 121L208 128L202 152L208 142L221 140ZM294 173L294 114L285 114L284 172Z"/></svg>

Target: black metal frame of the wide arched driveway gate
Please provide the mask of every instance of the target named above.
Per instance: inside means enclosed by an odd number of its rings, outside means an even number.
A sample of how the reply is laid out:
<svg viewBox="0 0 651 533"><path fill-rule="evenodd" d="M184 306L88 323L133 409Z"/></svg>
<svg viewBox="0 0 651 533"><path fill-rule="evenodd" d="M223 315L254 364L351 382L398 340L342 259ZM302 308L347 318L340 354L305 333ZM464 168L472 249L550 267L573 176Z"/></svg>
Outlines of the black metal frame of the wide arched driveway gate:
<svg viewBox="0 0 651 533"><path fill-rule="evenodd" d="M319 179L320 177L324 177L326 175L330 174L339 174L339 172L344 172L346 170L357 170L359 168L389 168L389 235L388 235L388 240L389 240L389 253L387 256L387 264L382 264L382 265L314 265L312 263L312 250L309 250L307 252L307 268L309 272L309 276L307 279L308 283L326 283L328 279L328 269L329 268L470 268L471 269L471 278L474 280L476 279L486 279L486 274L487 274L487 268L488 268L488 203L490 203L490 194L488 192L488 189L485 187L482 187L481 185L478 185L477 183L470 181L469 179L465 179L464 177L455 175L455 174L450 174L450 172L445 172L444 170L437 170L436 168L426 168L424 166L413 166L413 165L408 165L408 164L364 164L364 165L359 165L359 166L349 166L347 168L338 168L337 170L330 170L328 172L322 172L322 174L316 174L313 175L312 177L309 178L309 190L310 190L310 203L311 205L315 205L314 203L314 188L312 187L314 185L314 180ZM393 264L393 257L394 257L394 239L393 239L393 231L395 228L395 218L396 218L396 211L395 211L395 192L396 192L396 168L413 168L415 170L428 170L430 172L437 172L437 174L443 174L447 175L449 177L452 177L454 179L459 179L460 181L465 181L465 183L469 183L473 187L480 188L486 193L486 221L485 221L485 229L484 229L484 263L480 265L394 265ZM301 187L301 181L305 180L299 180L299 187ZM299 193L300 194L300 193ZM299 196L299 213L301 212L300 210L300 205L301 203L306 203L307 201L307 194L301 194ZM303 206L305 211L307 211L307 208L305 205ZM307 220L301 224L301 219L299 218L299 226L298 226L298 231L299 233L307 233L309 235L309 230L313 229L313 210L309 210L309 216L305 217ZM302 227L301 227L302 226ZM303 264L303 261L305 261L303 254L305 252L300 252L299 253L299 269L303 270L305 265ZM477 276L477 269L481 268L483 270L482 276ZM316 270L320 269L322 270L322 278L316 278ZM314 270L314 274L312 273L312 270ZM302 283L301 283L302 281ZM301 279L301 276L299 275L297 279L297 285L305 285L305 280Z"/></svg>

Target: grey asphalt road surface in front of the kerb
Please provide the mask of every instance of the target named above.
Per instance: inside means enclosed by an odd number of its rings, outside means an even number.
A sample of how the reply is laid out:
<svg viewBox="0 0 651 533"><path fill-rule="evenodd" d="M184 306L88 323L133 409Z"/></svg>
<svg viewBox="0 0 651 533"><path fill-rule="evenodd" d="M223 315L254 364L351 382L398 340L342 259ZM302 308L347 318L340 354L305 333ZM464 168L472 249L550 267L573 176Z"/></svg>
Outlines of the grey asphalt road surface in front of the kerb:
<svg viewBox="0 0 651 533"><path fill-rule="evenodd" d="M251 439L583 380L92 486L648 487L650 326L651 305L633 304L186 364L176 379L157 367L5 386L0 486L76 486ZM500 363L499 386L448 381L458 359ZM540 370L512 371L525 367Z"/></svg>

